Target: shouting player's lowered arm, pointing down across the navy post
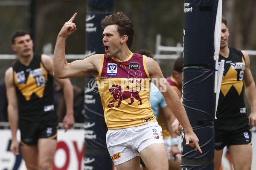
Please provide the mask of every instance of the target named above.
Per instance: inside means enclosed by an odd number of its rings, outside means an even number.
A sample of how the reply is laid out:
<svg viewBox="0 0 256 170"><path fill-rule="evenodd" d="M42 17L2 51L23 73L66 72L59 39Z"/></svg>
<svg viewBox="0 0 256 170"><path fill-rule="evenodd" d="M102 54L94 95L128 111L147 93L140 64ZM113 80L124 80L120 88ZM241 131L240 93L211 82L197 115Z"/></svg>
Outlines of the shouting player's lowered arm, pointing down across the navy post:
<svg viewBox="0 0 256 170"><path fill-rule="evenodd" d="M157 64L157 62L154 61L154 59L147 57L146 58L146 67L148 69L148 73L150 75L152 82L161 91L161 93L163 94L164 99L166 101L166 104L172 110L175 117L180 122L180 125L185 130L186 145L195 147L196 151L199 150L200 153L202 153L202 151L199 147L199 144L198 144L198 142L199 142L198 137L193 132L193 129L190 125L185 108L183 107L182 102L180 101L180 98L177 95L177 93L173 90L173 88L169 85L169 83L163 77L163 74L162 74L162 71L161 71L159 65ZM154 79L157 81L154 81ZM189 141L192 141L193 143L190 143Z"/></svg>

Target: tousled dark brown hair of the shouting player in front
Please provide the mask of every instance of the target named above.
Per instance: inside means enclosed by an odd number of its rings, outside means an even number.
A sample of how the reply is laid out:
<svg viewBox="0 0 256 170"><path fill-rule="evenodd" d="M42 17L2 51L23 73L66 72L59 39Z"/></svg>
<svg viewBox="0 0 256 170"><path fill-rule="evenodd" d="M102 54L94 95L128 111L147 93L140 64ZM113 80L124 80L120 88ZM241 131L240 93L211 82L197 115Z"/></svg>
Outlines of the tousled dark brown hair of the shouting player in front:
<svg viewBox="0 0 256 170"><path fill-rule="evenodd" d="M129 20L128 17L122 12L116 12L113 13L112 15L106 16L102 20L102 28L106 28L107 26L110 25L117 25L117 31L121 36L127 35L128 40L126 41L126 44L128 48L131 48L132 42L133 42L133 37L134 37L134 29L133 29L133 24L131 20Z"/></svg>

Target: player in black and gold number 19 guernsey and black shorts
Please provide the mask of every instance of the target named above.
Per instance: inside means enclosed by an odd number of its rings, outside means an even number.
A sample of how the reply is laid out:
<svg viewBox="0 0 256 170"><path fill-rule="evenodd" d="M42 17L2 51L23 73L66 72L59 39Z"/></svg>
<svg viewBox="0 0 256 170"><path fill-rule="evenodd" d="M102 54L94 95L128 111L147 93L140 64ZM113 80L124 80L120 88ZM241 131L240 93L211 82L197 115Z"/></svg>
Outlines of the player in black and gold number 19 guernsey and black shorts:
<svg viewBox="0 0 256 170"><path fill-rule="evenodd" d="M21 151L29 170L52 169L57 146L57 114L54 108L55 79L64 89L65 130L73 127L73 86L69 79L53 76L52 58L33 52L33 41L27 31L16 31L12 49L17 61L5 73L8 117L12 131L10 150L19 155L17 129L20 129Z"/></svg>

